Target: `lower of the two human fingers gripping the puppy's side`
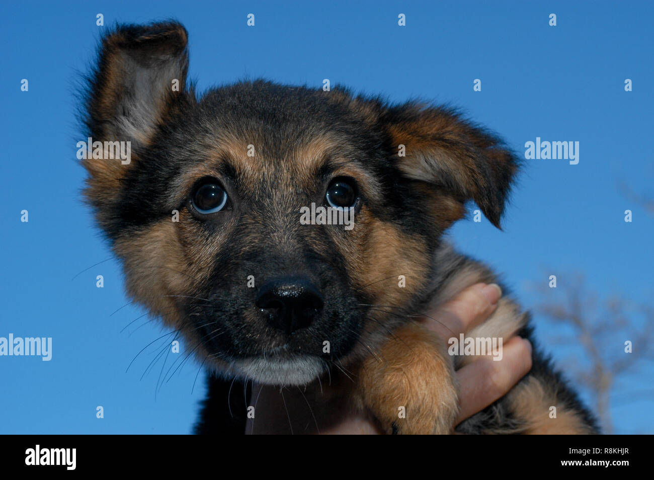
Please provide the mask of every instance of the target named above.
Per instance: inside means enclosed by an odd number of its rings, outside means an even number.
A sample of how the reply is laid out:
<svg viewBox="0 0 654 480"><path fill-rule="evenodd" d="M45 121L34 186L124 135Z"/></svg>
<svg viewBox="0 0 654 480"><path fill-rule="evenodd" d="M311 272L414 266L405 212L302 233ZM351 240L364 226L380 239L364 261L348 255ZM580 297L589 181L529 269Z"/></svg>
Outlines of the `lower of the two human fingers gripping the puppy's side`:
<svg viewBox="0 0 654 480"><path fill-rule="evenodd" d="M456 371L460 385L460 412L456 423L472 417L504 396L532 366L528 340L513 337L502 349L502 360L480 358Z"/></svg>

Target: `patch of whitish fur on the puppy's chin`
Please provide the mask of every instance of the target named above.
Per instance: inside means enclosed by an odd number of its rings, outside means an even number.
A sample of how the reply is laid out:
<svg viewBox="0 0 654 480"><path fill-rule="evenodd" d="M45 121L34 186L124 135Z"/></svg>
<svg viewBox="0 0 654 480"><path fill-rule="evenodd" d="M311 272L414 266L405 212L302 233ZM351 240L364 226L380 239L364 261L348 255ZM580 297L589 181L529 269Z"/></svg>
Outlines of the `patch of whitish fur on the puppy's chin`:
<svg viewBox="0 0 654 480"><path fill-rule="evenodd" d="M245 358L234 360L231 368L237 375L268 385L306 385L318 378L325 368L319 358L307 356L292 360Z"/></svg>

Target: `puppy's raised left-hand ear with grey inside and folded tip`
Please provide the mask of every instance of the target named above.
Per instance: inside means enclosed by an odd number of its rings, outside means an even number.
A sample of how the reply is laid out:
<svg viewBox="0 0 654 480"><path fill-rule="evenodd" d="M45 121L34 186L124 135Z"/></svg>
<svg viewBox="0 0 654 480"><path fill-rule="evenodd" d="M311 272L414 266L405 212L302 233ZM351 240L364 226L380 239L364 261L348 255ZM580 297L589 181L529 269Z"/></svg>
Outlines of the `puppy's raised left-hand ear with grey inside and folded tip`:
<svg viewBox="0 0 654 480"><path fill-rule="evenodd" d="M86 92L88 137L130 142L132 158L138 156L185 96L187 38L186 29L175 22L120 25L105 35ZM116 194L131 167L120 160L87 158L82 163L91 175L86 194L96 206Z"/></svg>

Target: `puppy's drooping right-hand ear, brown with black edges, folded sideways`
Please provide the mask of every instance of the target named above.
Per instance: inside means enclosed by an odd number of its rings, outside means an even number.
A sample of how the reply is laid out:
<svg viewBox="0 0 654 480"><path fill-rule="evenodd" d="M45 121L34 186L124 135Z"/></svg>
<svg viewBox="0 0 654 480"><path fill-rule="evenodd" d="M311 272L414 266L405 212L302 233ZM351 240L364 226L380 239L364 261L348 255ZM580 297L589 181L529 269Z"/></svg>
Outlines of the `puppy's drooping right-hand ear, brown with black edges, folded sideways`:
<svg viewBox="0 0 654 480"><path fill-rule="evenodd" d="M519 166L501 139L451 109L417 103L390 107L382 121L394 145L405 146L398 165L406 177L438 186L462 203L474 200L500 228Z"/></svg>

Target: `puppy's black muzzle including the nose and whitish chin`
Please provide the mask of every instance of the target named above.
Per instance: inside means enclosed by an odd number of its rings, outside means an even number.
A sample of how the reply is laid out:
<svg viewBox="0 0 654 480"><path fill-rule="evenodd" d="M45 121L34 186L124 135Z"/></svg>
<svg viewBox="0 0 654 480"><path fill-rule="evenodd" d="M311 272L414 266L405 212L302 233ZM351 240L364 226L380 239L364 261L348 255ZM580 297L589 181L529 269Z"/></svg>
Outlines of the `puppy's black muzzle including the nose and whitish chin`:
<svg viewBox="0 0 654 480"><path fill-rule="evenodd" d="M254 301L216 290L203 296L211 306L185 312L218 373L266 385L307 385L347 361L360 342L366 309L352 294L325 294L300 277L267 281L259 290Z"/></svg>

